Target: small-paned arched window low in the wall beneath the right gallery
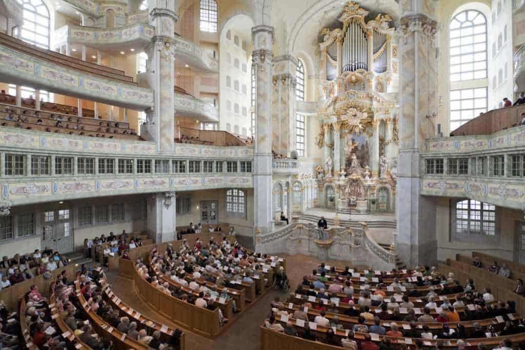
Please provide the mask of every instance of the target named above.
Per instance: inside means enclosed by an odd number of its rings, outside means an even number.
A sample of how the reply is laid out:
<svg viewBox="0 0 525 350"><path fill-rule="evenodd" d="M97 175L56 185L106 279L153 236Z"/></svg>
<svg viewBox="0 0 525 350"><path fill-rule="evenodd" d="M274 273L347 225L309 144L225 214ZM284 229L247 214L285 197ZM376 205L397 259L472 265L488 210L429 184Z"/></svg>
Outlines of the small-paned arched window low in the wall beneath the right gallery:
<svg viewBox="0 0 525 350"><path fill-rule="evenodd" d="M478 200L456 203L456 235L496 235L496 207Z"/></svg>

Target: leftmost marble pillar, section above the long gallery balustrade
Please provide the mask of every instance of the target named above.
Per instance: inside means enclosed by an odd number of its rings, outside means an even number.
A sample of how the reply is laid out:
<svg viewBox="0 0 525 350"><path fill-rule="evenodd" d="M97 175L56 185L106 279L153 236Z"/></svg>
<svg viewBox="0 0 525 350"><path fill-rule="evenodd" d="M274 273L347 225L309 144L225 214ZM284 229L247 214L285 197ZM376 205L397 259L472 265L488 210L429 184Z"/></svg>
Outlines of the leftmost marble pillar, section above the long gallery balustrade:
<svg viewBox="0 0 525 350"><path fill-rule="evenodd" d="M156 36L146 48L151 59L155 90L155 107L148 115L148 132L161 153L173 153L175 139L175 45L174 30L178 16L175 1L156 0L150 5L150 25L155 26Z"/></svg>

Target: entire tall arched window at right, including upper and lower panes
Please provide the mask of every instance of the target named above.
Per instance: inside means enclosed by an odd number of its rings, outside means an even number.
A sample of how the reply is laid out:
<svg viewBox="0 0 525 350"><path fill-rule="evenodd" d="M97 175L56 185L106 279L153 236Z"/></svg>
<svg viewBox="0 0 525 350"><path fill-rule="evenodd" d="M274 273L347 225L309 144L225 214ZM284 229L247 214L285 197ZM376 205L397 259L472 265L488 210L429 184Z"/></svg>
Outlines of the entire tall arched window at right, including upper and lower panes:
<svg viewBox="0 0 525 350"><path fill-rule="evenodd" d="M487 111L487 19L478 10L458 13L449 25L450 130ZM464 81L469 81L464 86Z"/></svg>

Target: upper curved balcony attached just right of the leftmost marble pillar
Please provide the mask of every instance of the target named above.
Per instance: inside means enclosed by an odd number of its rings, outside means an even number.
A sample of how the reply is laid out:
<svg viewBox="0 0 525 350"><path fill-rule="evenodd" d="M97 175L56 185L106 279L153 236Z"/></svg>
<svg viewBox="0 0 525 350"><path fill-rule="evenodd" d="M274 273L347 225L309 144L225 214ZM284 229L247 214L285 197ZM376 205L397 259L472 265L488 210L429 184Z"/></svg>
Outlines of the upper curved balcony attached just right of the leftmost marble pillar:
<svg viewBox="0 0 525 350"><path fill-rule="evenodd" d="M192 69L203 70L210 73L219 72L219 60L209 55L198 44L175 34L175 60L181 59Z"/></svg>

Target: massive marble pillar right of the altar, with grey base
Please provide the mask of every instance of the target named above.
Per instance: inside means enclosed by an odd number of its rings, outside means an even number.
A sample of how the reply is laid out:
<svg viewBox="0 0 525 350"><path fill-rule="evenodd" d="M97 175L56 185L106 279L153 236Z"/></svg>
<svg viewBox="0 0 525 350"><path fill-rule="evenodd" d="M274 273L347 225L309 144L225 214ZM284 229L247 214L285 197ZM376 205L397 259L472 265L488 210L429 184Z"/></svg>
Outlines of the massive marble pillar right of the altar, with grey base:
<svg viewBox="0 0 525 350"><path fill-rule="evenodd" d="M437 22L434 0L400 2L400 110L397 166L397 253L407 266L437 262L436 205L420 195L419 151L434 137L437 112Z"/></svg>

